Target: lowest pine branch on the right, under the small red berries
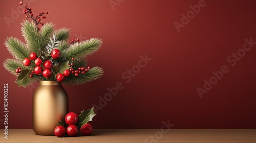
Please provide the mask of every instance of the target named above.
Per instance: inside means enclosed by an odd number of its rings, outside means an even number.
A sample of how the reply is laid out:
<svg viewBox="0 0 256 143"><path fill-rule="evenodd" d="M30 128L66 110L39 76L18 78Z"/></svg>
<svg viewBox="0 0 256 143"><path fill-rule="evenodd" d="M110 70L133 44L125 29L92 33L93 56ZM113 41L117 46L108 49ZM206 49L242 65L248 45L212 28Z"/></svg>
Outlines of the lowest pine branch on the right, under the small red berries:
<svg viewBox="0 0 256 143"><path fill-rule="evenodd" d="M66 84L66 85L86 84L88 82L99 79L103 75L103 73L104 72L101 67L95 66L95 67L89 69L89 71L84 75L79 74L78 77L75 77L74 74L71 74L70 77L67 77L63 81L63 84Z"/></svg>

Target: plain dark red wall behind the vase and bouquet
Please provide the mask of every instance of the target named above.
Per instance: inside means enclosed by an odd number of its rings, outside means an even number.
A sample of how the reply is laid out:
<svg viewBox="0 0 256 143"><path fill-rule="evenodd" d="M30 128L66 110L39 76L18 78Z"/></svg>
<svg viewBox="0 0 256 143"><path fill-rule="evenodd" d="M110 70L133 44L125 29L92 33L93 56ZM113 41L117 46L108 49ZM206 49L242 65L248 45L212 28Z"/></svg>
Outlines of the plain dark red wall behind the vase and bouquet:
<svg viewBox="0 0 256 143"><path fill-rule="evenodd" d="M25 15L11 16L18 2L5 1L0 6L0 61L11 58L4 45L6 37L24 41L19 23ZM117 96L97 110L94 128L160 128L168 120L173 128L256 128L255 46L236 65L227 61L243 48L244 39L256 41L255 1L205 0L206 6L178 32L174 22L181 23L181 14L198 2L124 0L113 10L109 0L31 0L29 7L34 13L48 11L44 22L71 28L71 39L81 34L80 39L104 41L89 58L91 66L104 68L104 76L87 85L65 86L70 111L79 114L98 105L99 96L109 93L108 87L123 84ZM14 22L8 27L4 17ZM122 74L145 54L152 60L126 83ZM209 81L212 71L223 65L228 73L200 98L197 87L203 88L204 79ZM32 128L34 86L18 88L15 77L0 67L1 87L9 84L9 128ZM2 114L4 98L0 97Z"/></svg>

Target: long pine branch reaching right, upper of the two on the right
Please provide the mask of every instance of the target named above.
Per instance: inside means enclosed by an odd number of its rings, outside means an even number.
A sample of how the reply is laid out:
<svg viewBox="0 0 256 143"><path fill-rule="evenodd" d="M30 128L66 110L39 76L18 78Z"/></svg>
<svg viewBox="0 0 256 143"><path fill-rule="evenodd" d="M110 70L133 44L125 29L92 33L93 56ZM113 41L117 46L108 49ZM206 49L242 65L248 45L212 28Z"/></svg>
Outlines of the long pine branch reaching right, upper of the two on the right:
<svg viewBox="0 0 256 143"><path fill-rule="evenodd" d="M99 40L98 38L91 38L80 43L74 43L73 45L70 45L69 49L62 51L59 60L65 62L73 57L75 57L76 61L81 60L98 51L101 44L102 40Z"/></svg>

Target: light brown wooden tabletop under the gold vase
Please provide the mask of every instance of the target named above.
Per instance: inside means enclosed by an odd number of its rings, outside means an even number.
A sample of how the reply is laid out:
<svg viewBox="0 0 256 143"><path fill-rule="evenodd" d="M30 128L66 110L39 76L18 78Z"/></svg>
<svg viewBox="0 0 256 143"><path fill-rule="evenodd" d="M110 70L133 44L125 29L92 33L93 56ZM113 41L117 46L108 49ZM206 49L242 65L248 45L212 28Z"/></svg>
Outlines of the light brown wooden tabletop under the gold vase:
<svg viewBox="0 0 256 143"><path fill-rule="evenodd" d="M2 130L2 129L1 129ZM3 133L3 131L1 131ZM1 134L2 134L1 133ZM32 129L9 129L0 142L177 142L177 143L255 143L256 129L95 129L90 136L39 136Z"/></svg>

